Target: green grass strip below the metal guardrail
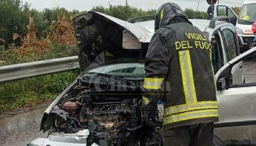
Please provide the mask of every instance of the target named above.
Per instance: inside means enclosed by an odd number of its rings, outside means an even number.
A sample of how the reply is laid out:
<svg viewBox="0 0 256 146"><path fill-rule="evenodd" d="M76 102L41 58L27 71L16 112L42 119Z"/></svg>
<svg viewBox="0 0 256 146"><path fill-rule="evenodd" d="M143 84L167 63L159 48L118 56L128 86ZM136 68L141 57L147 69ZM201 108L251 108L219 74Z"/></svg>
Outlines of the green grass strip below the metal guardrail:
<svg viewBox="0 0 256 146"><path fill-rule="evenodd" d="M76 71L69 71L1 84L0 113L52 101L77 77Z"/></svg>

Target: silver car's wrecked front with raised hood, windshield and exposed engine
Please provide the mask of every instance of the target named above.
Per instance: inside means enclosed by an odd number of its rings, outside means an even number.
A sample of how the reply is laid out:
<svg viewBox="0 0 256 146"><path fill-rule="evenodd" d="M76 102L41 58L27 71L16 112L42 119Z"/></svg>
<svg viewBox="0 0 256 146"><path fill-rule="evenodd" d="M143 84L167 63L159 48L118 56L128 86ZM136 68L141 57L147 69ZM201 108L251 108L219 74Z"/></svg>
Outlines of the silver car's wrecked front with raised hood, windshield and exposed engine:
<svg viewBox="0 0 256 146"><path fill-rule="evenodd" d="M150 129L141 120L143 60L152 32L94 11L73 21L81 75L45 111L41 130L48 140L161 145L161 126ZM157 111L155 117L161 123Z"/></svg>

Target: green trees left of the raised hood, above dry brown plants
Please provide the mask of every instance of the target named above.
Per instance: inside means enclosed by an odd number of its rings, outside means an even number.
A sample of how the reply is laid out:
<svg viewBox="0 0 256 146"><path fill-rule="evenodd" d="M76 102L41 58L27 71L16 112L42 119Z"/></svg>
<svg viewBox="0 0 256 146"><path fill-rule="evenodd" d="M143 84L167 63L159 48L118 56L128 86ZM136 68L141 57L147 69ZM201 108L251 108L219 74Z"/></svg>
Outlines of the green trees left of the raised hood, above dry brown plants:
<svg viewBox="0 0 256 146"><path fill-rule="evenodd" d="M65 8L45 9L37 11L31 9L28 3L21 0L1 0L0 1L0 38L6 42L13 42L12 35L17 33L24 36L29 25L29 17L34 18L37 26L37 37L42 39L47 36L51 26L56 23L57 16L70 18L78 14L79 11L67 11ZM15 40L15 45L21 45L21 39Z"/></svg>

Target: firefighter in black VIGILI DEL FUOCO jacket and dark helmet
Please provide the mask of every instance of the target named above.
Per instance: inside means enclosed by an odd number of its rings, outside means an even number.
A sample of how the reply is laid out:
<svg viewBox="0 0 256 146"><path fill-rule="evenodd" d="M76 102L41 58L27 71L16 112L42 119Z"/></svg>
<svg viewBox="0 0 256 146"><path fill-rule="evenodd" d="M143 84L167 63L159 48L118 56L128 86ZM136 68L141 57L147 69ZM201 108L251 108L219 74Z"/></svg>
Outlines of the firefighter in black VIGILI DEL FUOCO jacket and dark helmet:
<svg viewBox="0 0 256 146"><path fill-rule="evenodd" d="M142 108L147 126L156 128L157 102L165 102L164 146L212 145L219 118L211 53L208 38L177 4L161 5L145 57Z"/></svg>

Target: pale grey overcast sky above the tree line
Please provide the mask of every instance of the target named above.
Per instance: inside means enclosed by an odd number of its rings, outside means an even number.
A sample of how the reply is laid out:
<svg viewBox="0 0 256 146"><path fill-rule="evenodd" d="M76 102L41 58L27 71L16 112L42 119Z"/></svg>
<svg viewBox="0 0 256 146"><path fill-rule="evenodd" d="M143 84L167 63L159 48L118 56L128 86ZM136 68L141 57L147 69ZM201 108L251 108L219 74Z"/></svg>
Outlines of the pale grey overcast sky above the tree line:
<svg viewBox="0 0 256 146"><path fill-rule="evenodd" d="M23 0L31 4L32 8L43 10L44 8L52 7L64 7L68 10L91 10L93 6L103 5L105 7L110 4L125 4L126 0ZM165 2L175 2L182 9L193 8L196 10L199 0L128 0L128 4L143 10L157 9L161 4ZM232 6L241 6L244 0L219 0L219 4ZM208 4L206 0L200 0L199 10L207 11Z"/></svg>

